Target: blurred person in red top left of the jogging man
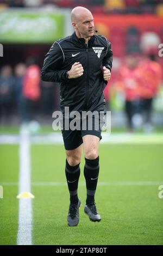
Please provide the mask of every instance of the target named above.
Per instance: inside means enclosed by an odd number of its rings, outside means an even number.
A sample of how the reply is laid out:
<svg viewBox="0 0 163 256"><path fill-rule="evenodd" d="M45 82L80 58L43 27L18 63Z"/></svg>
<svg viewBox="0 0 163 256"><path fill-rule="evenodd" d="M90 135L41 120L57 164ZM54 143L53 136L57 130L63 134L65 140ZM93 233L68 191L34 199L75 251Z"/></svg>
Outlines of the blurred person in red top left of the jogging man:
<svg viewBox="0 0 163 256"><path fill-rule="evenodd" d="M24 123L32 121L35 103L40 99L40 68L32 58L27 60L27 67L22 90Z"/></svg>

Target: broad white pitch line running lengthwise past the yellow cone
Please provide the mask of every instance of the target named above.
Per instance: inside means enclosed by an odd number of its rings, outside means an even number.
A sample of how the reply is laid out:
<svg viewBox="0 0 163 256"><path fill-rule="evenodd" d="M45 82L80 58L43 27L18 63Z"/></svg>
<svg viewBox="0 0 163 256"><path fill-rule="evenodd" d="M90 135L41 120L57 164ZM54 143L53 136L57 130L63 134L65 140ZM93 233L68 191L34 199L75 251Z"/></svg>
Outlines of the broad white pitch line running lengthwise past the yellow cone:
<svg viewBox="0 0 163 256"><path fill-rule="evenodd" d="M30 192L30 137L21 132L19 191ZM32 245L32 199L19 199L17 245Z"/></svg>

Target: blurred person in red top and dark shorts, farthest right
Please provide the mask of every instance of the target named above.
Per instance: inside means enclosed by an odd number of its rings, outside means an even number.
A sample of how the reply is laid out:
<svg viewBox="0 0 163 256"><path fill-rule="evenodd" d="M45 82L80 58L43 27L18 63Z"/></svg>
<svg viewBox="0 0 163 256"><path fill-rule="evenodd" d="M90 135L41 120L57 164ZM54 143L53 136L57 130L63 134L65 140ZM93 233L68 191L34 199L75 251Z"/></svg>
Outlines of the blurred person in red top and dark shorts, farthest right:
<svg viewBox="0 0 163 256"><path fill-rule="evenodd" d="M161 65L156 62L156 54L149 54L147 59L144 59L139 64L142 74L142 112L145 114L145 132L151 132L151 112L153 99L158 93L161 85Z"/></svg>

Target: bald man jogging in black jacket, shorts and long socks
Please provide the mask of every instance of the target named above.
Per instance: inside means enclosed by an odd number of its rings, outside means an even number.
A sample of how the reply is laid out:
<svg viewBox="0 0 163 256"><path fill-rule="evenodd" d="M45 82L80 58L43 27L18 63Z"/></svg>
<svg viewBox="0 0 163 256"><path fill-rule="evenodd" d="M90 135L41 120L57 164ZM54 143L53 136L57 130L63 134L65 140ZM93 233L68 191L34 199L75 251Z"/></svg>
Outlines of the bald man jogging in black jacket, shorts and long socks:
<svg viewBox="0 0 163 256"><path fill-rule="evenodd" d="M74 33L57 40L52 45L43 63L43 81L60 83L60 108L65 117L65 107L72 113L77 111L104 111L103 90L110 80L112 50L110 42L102 35L94 35L93 16L89 10L76 7L71 12ZM95 119L93 119L95 122ZM83 121L83 119L82 119ZM63 126L62 137L66 152L66 179L70 192L69 226L79 223L80 199L78 181L80 161L84 149L86 181L86 204L84 212L91 221L101 221L96 204L95 192L99 175L98 148L101 128L92 129L80 123L80 129L71 130Z"/></svg>

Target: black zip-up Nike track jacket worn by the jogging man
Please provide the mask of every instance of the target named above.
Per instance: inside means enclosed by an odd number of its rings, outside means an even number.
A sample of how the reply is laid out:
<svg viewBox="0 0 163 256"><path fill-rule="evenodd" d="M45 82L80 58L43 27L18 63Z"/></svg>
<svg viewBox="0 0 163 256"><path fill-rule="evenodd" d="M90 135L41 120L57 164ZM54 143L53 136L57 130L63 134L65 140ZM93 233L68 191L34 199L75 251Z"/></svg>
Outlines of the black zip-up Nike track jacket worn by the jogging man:
<svg viewBox="0 0 163 256"><path fill-rule="evenodd" d="M67 79L66 72L75 62L80 62L84 73L78 78ZM102 35L93 35L85 44L84 38L71 36L54 42L43 63L43 81L60 83L60 107L69 111L103 111L105 99L102 68L112 67L110 42Z"/></svg>

